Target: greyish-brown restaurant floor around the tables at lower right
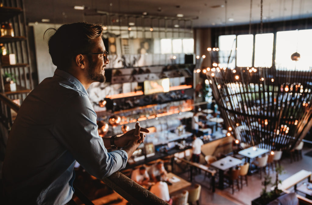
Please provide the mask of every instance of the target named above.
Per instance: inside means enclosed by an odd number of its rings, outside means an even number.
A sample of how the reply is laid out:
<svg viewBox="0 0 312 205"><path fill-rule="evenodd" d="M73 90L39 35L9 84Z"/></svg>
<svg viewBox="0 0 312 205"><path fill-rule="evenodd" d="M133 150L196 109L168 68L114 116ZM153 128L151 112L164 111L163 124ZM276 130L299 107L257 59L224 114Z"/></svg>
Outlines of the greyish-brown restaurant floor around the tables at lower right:
<svg viewBox="0 0 312 205"><path fill-rule="evenodd" d="M300 161L296 161L290 163L290 158L287 154L283 154L281 165L284 167L285 171L280 176L280 179L286 179L290 175L295 174L296 172L304 169L308 171L312 171L312 157L305 156L306 152L312 151L312 148L304 148L303 150L303 159ZM187 177L187 174L182 175ZM272 181L275 179L275 174L272 173ZM232 194L232 189L227 188L224 190L216 189L215 193L212 193L210 189L207 189L209 180L203 180L203 175L197 175L194 177L194 183L198 183L202 185L200 204L201 205L211 205L211 204L251 204L251 200L260 196L260 192L262 191L263 186L261 185L261 181L259 179L259 174L254 173L251 176L248 176L248 187L244 186L240 191L235 191Z"/></svg>

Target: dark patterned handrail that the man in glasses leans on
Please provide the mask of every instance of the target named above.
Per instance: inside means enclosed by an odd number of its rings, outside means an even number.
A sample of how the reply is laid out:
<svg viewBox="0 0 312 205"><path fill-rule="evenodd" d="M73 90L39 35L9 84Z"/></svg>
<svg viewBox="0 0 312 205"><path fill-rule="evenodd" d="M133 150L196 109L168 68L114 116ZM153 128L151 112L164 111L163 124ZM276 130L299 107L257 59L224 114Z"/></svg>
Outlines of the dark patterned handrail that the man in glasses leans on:
<svg viewBox="0 0 312 205"><path fill-rule="evenodd" d="M15 112L18 111L19 105L12 102L7 96L0 93L0 117L1 122L9 130L12 126L12 116L11 109ZM102 179L102 181L107 184L110 188L115 190L123 198L129 201L132 204L136 205L166 205L167 202L163 201L161 198L158 198L155 194L151 193L149 190L144 189L139 184L135 183L133 180L129 179L119 171L110 175L109 177ZM78 198L80 198L78 196ZM88 203L83 200L85 204L92 204L89 200Z"/></svg>

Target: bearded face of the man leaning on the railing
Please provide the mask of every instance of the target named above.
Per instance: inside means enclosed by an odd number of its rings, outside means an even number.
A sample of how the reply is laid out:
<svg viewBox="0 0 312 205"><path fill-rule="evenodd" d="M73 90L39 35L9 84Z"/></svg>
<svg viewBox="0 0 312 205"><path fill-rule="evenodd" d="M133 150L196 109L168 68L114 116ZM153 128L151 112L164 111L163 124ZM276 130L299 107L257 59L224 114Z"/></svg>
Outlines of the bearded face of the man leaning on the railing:
<svg viewBox="0 0 312 205"><path fill-rule="evenodd" d="M105 46L101 37L92 40L95 44L90 53L100 53L105 51ZM110 61L107 58L104 62L103 54L89 55L89 67L87 70L87 77L93 82L105 82L105 67Z"/></svg>

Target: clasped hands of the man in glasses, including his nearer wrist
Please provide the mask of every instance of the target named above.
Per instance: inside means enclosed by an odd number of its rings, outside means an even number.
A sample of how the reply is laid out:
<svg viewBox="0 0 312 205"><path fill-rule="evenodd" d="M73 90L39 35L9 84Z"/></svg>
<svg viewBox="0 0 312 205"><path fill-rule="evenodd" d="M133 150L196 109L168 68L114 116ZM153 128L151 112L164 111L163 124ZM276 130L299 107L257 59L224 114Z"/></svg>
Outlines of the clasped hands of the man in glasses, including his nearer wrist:
<svg viewBox="0 0 312 205"><path fill-rule="evenodd" d="M139 144L144 142L145 135L143 133L140 133L140 131L148 133L149 131L145 128L141 128L139 123L135 123L135 129L128 131L121 137L128 137L129 141L124 142L127 146L124 147L124 151L128 154L128 159L130 156L132 156L133 152L139 147ZM128 134L131 133L131 134ZM117 138L121 138L117 137ZM115 142L116 144L116 142ZM116 146L119 146L119 144L116 144Z"/></svg>

